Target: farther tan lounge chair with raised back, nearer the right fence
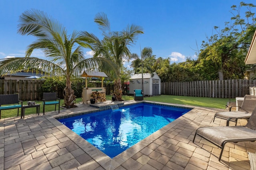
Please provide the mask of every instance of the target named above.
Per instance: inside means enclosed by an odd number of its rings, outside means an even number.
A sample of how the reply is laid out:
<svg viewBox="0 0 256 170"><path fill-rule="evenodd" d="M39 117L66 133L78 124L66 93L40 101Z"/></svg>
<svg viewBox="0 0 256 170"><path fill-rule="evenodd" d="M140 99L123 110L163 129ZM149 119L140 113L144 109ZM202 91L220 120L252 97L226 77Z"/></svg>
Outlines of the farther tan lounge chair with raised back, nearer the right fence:
<svg viewBox="0 0 256 170"><path fill-rule="evenodd" d="M213 122L216 117L220 119L226 119L227 123L226 126L229 125L229 122L236 122L238 119L249 119L250 116L252 115L252 111L254 110L256 106L256 96L254 95L245 95L244 96L244 101L242 103L242 106L231 106L229 108L229 112L219 112L214 115ZM231 111L232 107L239 107L239 111Z"/></svg>

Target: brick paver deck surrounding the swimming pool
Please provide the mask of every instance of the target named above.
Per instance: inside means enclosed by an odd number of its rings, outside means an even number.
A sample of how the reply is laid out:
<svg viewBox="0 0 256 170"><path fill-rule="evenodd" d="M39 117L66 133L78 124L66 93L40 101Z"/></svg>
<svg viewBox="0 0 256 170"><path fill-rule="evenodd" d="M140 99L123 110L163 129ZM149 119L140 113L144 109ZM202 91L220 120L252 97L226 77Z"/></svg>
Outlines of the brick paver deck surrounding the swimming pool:
<svg viewBox="0 0 256 170"><path fill-rule="evenodd" d="M247 152L256 152L256 142L229 143L219 162L218 147L199 136L194 144L198 127L226 125L221 119L212 122L223 110L194 107L111 159L54 118L92 110L79 104L59 114L0 119L0 170L248 170Z"/></svg>

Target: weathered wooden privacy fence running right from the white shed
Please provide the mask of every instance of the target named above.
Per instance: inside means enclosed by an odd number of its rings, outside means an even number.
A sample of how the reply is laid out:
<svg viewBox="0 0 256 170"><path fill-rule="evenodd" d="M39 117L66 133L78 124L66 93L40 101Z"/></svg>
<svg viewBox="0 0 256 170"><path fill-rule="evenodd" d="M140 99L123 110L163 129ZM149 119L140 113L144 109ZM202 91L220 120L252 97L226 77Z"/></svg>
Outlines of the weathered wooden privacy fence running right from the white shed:
<svg viewBox="0 0 256 170"><path fill-rule="evenodd" d="M256 86L256 80L212 80L161 83L161 94L235 98L250 94L249 87Z"/></svg>

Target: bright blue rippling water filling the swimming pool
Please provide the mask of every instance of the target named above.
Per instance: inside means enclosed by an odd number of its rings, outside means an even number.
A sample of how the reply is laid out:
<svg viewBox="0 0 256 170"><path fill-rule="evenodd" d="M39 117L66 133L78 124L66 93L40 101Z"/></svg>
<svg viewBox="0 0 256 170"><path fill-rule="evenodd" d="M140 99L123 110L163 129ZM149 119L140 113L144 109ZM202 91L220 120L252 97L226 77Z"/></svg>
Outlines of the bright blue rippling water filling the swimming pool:
<svg viewBox="0 0 256 170"><path fill-rule="evenodd" d="M140 103L58 121L114 158L188 111Z"/></svg>

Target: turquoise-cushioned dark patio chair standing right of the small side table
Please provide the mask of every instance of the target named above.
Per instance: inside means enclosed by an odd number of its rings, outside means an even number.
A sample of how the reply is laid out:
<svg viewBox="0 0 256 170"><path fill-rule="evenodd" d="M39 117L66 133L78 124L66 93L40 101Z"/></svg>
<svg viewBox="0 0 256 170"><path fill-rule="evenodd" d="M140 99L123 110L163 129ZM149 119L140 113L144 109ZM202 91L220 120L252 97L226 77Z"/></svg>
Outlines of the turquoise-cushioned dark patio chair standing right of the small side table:
<svg viewBox="0 0 256 170"><path fill-rule="evenodd" d="M43 93L42 101L43 101L43 113L44 113L45 105L55 105L55 111L56 111L56 105L59 105L59 113L60 113L60 98L57 98L56 92Z"/></svg>

